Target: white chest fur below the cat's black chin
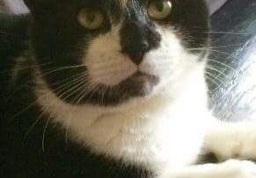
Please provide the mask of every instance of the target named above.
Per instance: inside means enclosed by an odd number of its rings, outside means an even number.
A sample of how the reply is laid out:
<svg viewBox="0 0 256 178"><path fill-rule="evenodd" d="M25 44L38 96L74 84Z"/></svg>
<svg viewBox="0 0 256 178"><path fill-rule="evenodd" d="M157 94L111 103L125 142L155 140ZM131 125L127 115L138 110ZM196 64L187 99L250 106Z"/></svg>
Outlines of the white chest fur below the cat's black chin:
<svg viewBox="0 0 256 178"><path fill-rule="evenodd" d="M203 75L198 72L187 80L191 82L186 81L187 87L182 82L182 89L170 86L178 97L164 96L163 91L163 96L135 99L112 108L63 103L47 87L36 92L53 122L67 128L70 137L89 146L93 153L159 170L192 163L208 128Z"/></svg>

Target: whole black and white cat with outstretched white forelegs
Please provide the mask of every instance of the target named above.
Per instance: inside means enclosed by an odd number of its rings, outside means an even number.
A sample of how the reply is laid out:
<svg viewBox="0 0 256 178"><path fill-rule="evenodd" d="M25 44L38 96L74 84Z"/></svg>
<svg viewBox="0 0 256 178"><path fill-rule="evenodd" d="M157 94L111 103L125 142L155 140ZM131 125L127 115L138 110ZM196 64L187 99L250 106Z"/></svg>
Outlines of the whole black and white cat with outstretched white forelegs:
<svg viewBox="0 0 256 178"><path fill-rule="evenodd" d="M256 125L208 110L203 0L26 4L0 16L1 177L256 177Z"/></svg>

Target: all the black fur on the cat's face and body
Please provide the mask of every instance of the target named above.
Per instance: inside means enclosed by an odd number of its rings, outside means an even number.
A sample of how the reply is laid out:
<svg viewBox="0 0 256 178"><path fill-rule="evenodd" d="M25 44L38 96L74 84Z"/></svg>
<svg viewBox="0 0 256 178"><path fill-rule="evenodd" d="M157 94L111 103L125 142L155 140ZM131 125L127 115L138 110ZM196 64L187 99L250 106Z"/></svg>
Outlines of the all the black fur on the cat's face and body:
<svg viewBox="0 0 256 178"><path fill-rule="evenodd" d="M125 167L118 160L91 154L88 148L69 139L66 140L66 131L60 129L58 125L51 124L47 115L40 116L42 110L37 104L29 107L36 101L33 93L32 61L28 60L24 63L24 67L28 69L20 70L16 82L9 82L11 68L16 63L17 57L26 50L36 57L42 73L81 64L81 58L86 53L84 48L86 49L90 40L97 38L100 33L109 32L112 28L106 16L105 24L99 30L84 29L77 23L77 12L83 7L99 7L105 13L111 12L111 16L115 19L114 23L125 19L126 23L121 30L123 52L132 56L135 63L141 62L143 54L157 47L161 40L155 31L155 26L150 23L150 18L135 18L138 12L141 12L139 14L141 16L145 15L148 1L128 1L138 5L128 5L126 9L121 9L118 4L113 3L114 1L108 4L106 2L108 1L27 0L32 16L0 15L1 104L3 104L0 125L0 177L153 177L153 173L143 167L133 165ZM157 23L181 29L180 36L188 47L204 46L208 38L206 33L208 15L205 4L201 0L173 0L172 4L174 8L170 17ZM134 14L129 17L122 16L126 14L125 11ZM143 22L140 19L143 19ZM139 26L142 24L144 26ZM138 33L131 32L135 26L139 30L136 31ZM130 44L129 38L132 37L137 37L133 41L136 46ZM145 41L146 45L143 43ZM44 79L48 87L55 90L65 84L64 80L69 76L78 75L86 70L86 68L60 70L44 75ZM154 76L145 77L148 77L152 84L158 82ZM147 91L139 90L140 86L131 88L132 85L132 82L126 81L116 89L106 91L100 104L116 105L135 94L146 94ZM100 88L97 92L84 96L81 103L99 104ZM67 103L77 104L77 94L66 98L61 94L55 94ZM40 119L37 120L38 118Z"/></svg>

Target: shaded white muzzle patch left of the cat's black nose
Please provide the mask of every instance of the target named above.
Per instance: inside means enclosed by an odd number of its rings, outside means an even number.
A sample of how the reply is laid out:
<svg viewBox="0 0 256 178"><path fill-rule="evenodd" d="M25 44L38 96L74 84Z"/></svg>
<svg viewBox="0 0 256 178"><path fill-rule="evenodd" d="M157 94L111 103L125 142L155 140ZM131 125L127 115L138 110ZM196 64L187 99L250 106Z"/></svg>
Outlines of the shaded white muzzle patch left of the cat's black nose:
<svg viewBox="0 0 256 178"><path fill-rule="evenodd" d="M89 44L84 63L93 84L114 86L133 75L135 64L121 53L119 26L93 39Z"/></svg>

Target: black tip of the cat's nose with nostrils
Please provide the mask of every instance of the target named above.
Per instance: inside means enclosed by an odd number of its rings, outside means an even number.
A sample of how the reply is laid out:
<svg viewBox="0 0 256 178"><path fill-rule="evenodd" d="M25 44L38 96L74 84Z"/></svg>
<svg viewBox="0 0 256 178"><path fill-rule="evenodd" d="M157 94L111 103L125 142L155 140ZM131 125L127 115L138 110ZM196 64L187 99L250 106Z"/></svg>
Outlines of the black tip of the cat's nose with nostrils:
<svg viewBox="0 0 256 178"><path fill-rule="evenodd" d="M121 53L127 54L130 60L136 65L140 65L143 61L145 53L150 50L150 45L147 41L130 41L122 47Z"/></svg>

